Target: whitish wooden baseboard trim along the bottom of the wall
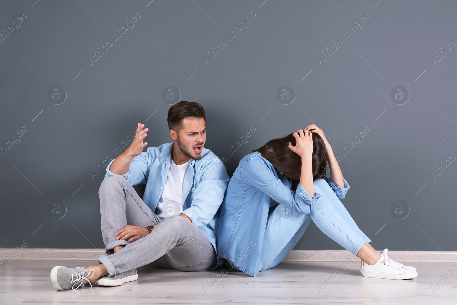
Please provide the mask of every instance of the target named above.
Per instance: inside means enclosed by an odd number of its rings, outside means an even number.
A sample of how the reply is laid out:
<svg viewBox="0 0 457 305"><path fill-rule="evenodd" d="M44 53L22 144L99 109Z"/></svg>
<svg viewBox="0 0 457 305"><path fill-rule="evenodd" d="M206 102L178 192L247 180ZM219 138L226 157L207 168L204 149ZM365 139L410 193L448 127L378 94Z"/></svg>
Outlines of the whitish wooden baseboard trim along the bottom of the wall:
<svg viewBox="0 0 457 305"><path fill-rule="evenodd" d="M457 262L457 251L389 251L389 257L398 262ZM56 248L0 248L3 260L94 260L105 255L105 249L56 249ZM344 262L353 260L346 250L292 250L284 261ZM358 258L357 258L358 260Z"/></svg>

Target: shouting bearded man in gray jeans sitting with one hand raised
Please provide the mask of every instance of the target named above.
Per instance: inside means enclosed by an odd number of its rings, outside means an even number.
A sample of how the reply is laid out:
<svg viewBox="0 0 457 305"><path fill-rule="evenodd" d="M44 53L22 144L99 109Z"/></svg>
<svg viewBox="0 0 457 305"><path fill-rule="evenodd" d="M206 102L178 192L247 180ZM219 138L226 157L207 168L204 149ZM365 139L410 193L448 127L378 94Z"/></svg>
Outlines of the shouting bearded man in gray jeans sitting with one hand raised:
<svg viewBox="0 0 457 305"><path fill-rule="evenodd" d="M178 102L170 107L167 121L173 143L143 152L148 128L138 123L133 143L106 167L99 196L109 255L87 268L54 267L55 289L92 286L97 280L100 286L122 285L136 280L136 268L150 262L182 271L216 267L216 213L227 188L227 171L203 148L202 105ZM139 183L146 183L143 200L132 187Z"/></svg>

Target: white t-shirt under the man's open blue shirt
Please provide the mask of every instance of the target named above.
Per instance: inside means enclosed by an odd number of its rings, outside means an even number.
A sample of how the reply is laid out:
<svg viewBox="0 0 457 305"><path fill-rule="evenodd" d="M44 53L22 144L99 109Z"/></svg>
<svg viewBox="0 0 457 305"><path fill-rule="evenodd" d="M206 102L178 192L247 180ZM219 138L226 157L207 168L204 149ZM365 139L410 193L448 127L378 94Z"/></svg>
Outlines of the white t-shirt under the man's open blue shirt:
<svg viewBox="0 0 457 305"><path fill-rule="evenodd" d="M160 219L179 215L182 212L182 184L186 176L187 169L192 159L184 164L176 165L171 159L170 171L168 172L165 188L157 203L156 215Z"/></svg>

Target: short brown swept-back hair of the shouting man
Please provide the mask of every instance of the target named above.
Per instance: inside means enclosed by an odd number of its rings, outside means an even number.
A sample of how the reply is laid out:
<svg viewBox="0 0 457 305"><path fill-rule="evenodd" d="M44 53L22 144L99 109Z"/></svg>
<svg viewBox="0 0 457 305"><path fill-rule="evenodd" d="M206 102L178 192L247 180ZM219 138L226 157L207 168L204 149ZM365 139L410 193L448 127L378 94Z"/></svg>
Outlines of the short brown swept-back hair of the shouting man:
<svg viewBox="0 0 457 305"><path fill-rule="evenodd" d="M197 102L181 101L168 110L168 128L179 132L182 129L182 119L187 117L203 118L206 123L205 109Z"/></svg>

